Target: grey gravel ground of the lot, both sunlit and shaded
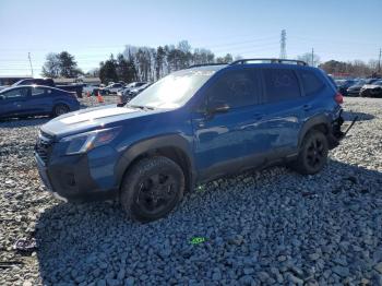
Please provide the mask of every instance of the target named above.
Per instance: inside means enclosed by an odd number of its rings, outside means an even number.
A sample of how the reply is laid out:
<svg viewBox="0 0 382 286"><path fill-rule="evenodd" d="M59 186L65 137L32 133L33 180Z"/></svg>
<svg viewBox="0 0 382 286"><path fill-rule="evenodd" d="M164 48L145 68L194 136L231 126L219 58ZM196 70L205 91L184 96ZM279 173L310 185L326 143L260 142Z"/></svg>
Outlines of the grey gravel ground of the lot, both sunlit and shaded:
<svg viewBox="0 0 382 286"><path fill-rule="evenodd" d="M382 99L344 106L361 121L321 174L216 180L145 225L44 191L33 145L48 119L0 123L0 285L382 285Z"/></svg>

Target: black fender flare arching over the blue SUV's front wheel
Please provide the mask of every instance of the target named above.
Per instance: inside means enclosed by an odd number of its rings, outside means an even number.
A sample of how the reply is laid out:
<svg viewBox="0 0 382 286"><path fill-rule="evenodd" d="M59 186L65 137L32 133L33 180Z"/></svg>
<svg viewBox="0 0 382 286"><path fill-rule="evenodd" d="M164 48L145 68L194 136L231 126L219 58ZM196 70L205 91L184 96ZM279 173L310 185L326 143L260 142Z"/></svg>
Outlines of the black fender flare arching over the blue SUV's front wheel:
<svg viewBox="0 0 382 286"><path fill-rule="evenodd" d="M131 166L131 164L141 155L155 153L155 151L158 148L174 147L180 150L188 159L189 174L184 175L189 176L189 188L192 189L196 178L192 144L193 143L191 140L188 140L183 135L178 133L144 139L134 143L123 152L116 165L115 171L117 175L116 178L118 182L118 188L121 186L124 172L128 170L129 166Z"/></svg>

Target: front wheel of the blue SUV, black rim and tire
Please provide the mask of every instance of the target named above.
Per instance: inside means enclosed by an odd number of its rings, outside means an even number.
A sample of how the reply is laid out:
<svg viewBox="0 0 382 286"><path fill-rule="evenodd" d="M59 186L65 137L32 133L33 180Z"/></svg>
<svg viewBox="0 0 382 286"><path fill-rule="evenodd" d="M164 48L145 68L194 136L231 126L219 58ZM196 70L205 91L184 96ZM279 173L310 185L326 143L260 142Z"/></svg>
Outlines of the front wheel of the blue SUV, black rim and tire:
<svg viewBox="0 0 382 286"><path fill-rule="evenodd" d="M168 215L181 201L184 175L174 160L143 158L124 175L120 203L129 217L148 223Z"/></svg>

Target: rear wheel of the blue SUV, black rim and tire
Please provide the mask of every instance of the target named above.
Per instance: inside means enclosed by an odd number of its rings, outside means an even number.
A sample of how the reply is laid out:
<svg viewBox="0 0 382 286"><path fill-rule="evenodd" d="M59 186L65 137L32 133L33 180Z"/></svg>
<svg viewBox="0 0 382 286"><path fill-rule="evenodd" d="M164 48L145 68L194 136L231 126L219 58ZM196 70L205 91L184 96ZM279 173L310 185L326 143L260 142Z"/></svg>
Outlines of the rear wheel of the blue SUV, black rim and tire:
<svg viewBox="0 0 382 286"><path fill-rule="evenodd" d="M327 154L326 136L318 130L311 130L303 138L298 157L291 167L302 175L318 174L324 168Z"/></svg>

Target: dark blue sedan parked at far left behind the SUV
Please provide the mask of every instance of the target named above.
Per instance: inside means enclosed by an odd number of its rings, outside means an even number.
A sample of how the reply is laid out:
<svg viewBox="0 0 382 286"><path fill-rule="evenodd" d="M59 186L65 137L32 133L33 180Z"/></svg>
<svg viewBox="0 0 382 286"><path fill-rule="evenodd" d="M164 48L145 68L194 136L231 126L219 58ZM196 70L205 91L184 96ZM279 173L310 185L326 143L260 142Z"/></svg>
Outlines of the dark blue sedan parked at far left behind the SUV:
<svg viewBox="0 0 382 286"><path fill-rule="evenodd" d="M43 85L0 91L0 117L60 116L80 109L75 93Z"/></svg>

